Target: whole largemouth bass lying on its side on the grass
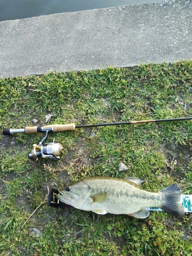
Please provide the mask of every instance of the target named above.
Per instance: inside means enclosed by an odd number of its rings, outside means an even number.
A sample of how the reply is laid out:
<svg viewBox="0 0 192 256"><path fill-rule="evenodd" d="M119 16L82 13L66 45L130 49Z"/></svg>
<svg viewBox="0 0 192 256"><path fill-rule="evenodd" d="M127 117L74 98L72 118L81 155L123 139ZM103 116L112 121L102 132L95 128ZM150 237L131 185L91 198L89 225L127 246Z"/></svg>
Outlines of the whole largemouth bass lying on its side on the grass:
<svg viewBox="0 0 192 256"><path fill-rule="evenodd" d="M140 189L143 180L138 178L90 177L76 181L56 198L81 210L96 214L126 214L135 218L146 218L150 211L146 207L158 207L169 214L184 215L180 202L181 189L177 184L163 188L157 193Z"/></svg>

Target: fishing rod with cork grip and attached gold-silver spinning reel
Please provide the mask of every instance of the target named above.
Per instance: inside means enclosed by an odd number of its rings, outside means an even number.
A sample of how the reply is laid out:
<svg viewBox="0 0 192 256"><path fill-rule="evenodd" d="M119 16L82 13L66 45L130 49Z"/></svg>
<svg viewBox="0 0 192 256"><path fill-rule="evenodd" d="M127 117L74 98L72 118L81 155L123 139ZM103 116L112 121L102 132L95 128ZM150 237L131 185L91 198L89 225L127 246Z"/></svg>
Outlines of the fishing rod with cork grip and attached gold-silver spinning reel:
<svg viewBox="0 0 192 256"><path fill-rule="evenodd" d="M51 142L45 143L45 139L49 132L63 132L63 131L75 131L76 128L84 127L98 127L98 126L108 126L108 125L125 125L125 124L135 124L135 123L153 123L153 122L168 122L168 121L181 121L181 120L191 120L192 117L182 117L182 118L170 118L170 119L153 119L153 120L141 120L141 121L129 121L129 122L117 122L117 123L95 123L95 124L51 124L46 126L31 126L25 127L23 129L11 129L6 128L2 130L3 135L12 135L14 133L42 133L45 132L46 136L38 143L33 144L33 150L28 154L28 158L32 161L38 161L40 158L59 160L63 153L63 147L60 143Z"/></svg>

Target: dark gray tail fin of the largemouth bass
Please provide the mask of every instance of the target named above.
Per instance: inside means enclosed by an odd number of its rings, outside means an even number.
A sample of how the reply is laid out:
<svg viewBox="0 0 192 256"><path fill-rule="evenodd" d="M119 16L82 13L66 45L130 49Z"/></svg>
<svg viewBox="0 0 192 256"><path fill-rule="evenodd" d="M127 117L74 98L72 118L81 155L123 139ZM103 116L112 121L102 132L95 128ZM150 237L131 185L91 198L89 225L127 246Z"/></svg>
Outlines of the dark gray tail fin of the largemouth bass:
<svg viewBox="0 0 192 256"><path fill-rule="evenodd" d="M167 211L169 214L180 216L185 214L184 207L181 204L181 189L177 184L170 185L159 191L163 194L164 202L161 209Z"/></svg>

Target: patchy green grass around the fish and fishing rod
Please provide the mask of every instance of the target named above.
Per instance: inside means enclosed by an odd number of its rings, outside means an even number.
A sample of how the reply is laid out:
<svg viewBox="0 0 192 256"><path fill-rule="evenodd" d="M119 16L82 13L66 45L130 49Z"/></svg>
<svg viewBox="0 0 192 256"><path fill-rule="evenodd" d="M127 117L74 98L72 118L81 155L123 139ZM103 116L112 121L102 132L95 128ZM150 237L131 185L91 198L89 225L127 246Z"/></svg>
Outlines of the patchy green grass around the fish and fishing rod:
<svg viewBox="0 0 192 256"><path fill-rule="evenodd" d="M191 61L1 79L0 126L32 126L33 118L42 126L49 113L50 124L190 117L191 84ZM191 131L188 120L50 133L46 142L60 142L64 154L37 165L27 154L41 134L0 135L0 255L190 256L190 214L180 219L151 212L140 220L44 204L22 226L44 201L47 186L88 176L140 177L150 191L178 183L192 194ZM120 162L126 172L119 172Z"/></svg>

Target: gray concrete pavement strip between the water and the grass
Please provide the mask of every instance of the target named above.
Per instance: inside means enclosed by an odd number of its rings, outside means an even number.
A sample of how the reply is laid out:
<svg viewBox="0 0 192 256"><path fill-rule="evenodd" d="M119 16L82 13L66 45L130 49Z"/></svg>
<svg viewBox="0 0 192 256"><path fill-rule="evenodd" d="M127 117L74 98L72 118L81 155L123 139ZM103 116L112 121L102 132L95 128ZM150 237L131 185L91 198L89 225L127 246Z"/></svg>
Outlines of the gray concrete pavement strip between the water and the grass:
<svg viewBox="0 0 192 256"><path fill-rule="evenodd" d="M0 77L192 59L192 1L0 22Z"/></svg>

